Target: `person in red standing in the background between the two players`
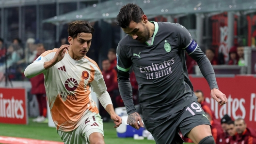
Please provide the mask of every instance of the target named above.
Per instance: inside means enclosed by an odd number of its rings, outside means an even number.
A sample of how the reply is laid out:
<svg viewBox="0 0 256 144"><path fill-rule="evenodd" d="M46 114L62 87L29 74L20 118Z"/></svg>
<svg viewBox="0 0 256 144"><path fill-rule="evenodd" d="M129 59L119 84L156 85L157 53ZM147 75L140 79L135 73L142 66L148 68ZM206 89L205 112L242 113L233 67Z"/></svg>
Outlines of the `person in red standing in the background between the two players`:
<svg viewBox="0 0 256 144"><path fill-rule="evenodd" d="M107 86L107 91L110 94L113 107L116 108L115 91L118 90L117 72L111 68L109 59L102 60L102 75ZM100 105L100 112L100 115L103 117L102 119L104 121L107 121L110 118L110 115L108 115L107 111L103 108L102 105Z"/></svg>

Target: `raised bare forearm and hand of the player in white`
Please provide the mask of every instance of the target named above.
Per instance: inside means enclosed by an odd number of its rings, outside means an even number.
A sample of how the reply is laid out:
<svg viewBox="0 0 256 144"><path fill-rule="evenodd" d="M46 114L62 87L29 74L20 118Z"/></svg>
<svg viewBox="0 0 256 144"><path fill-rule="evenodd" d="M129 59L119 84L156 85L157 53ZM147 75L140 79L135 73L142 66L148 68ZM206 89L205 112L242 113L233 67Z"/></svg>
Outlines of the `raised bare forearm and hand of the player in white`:
<svg viewBox="0 0 256 144"><path fill-rule="evenodd" d="M44 68L45 68L46 70L48 70L49 68L51 68L52 66L54 66L56 63L58 63L59 61L61 61L61 60L64 58L64 56L65 56L66 50L69 50L68 46L69 46L68 44L62 45L62 46L58 49L58 51L56 52L55 56L54 56L51 60L46 61L46 62L44 63Z"/></svg>

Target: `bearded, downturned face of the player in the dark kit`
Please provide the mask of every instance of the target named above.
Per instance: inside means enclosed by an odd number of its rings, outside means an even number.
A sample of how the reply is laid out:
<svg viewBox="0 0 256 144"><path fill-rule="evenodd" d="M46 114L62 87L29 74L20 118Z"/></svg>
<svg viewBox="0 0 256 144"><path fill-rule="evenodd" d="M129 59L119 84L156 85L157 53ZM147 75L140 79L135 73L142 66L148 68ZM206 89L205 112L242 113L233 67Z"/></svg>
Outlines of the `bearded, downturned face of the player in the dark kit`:
<svg viewBox="0 0 256 144"><path fill-rule="evenodd" d="M141 43L146 42L151 37L149 34L149 28L144 24L143 21L139 23L131 21L128 28L125 28L123 30L134 40L137 40Z"/></svg>

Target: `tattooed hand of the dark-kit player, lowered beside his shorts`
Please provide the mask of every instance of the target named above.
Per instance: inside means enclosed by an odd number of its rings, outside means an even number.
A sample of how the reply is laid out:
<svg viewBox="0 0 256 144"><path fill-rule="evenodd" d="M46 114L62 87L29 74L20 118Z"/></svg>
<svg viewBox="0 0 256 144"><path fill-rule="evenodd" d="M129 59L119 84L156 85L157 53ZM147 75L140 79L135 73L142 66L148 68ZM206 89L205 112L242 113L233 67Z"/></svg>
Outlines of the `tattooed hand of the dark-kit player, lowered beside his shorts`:
<svg viewBox="0 0 256 144"><path fill-rule="evenodd" d="M138 121L140 122L140 124L138 123ZM135 128L136 130L139 130L141 127L144 128L142 118L137 112L128 115L127 124Z"/></svg>

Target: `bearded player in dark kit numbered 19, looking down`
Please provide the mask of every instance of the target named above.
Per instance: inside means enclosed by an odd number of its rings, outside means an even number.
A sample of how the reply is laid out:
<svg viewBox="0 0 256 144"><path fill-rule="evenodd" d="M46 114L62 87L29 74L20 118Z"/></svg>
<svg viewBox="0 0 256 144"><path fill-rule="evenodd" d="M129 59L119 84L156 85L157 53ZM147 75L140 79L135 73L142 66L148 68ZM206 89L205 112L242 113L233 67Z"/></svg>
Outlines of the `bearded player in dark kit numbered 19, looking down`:
<svg viewBox="0 0 256 144"><path fill-rule="evenodd" d="M145 126L157 144L182 144L179 130L195 144L215 144L208 118L193 93L185 52L197 61L211 97L220 105L227 99L218 89L208 58L189 31L179 24L148 21L143 10L132 3L121 8L117 25L127 33L116 50L118 86L127 123L136 129ZM139 84L144 125L132 101L130 68Z"/></svg>

